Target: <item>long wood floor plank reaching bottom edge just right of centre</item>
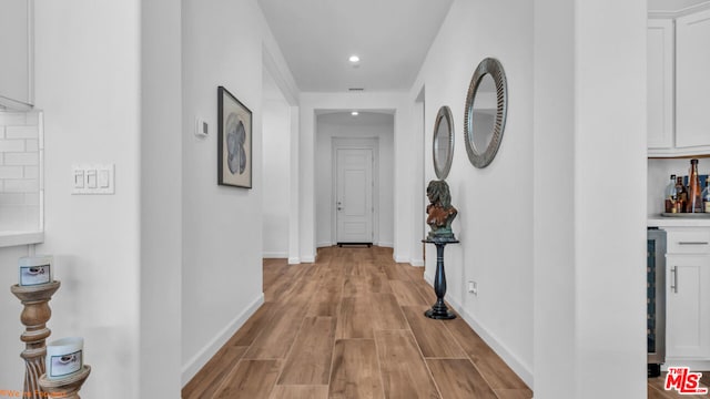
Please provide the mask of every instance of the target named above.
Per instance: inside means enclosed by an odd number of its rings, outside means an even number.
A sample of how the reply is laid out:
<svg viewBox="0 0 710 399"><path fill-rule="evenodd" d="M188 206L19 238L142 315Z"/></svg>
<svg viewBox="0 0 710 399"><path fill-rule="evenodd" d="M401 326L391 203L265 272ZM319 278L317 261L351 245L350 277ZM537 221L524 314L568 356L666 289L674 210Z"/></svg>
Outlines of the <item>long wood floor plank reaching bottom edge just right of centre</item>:
<svg viewBox="0 0 710 399"><path fill-rule="evenodd" d="M386 398L440 398L410 331L376 331L375 342Z"/></svg>

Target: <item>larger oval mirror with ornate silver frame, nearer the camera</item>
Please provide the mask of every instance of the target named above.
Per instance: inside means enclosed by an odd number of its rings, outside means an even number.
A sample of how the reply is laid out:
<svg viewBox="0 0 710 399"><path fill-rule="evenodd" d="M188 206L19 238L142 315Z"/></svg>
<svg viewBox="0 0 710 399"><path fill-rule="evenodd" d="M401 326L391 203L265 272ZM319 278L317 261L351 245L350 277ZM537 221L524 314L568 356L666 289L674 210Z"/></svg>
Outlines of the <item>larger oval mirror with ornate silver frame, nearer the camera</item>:
<svg viewBox="0 0 710 399"><path fill-rule="evenodd" d="M508 86L500 62L487 58L478 64L468 86L464 135L468 160L486 167L498 152L508 110Z"/></svg>

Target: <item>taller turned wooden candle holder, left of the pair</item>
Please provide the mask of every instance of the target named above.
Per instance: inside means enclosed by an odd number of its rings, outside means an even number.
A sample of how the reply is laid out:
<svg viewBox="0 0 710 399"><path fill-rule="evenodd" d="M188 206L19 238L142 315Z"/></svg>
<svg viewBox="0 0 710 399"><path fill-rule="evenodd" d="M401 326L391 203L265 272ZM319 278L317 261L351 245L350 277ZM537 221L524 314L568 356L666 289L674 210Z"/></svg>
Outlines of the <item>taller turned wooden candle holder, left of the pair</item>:
<svg viewBox="0 0 710 399"><path fill-rule="evenodd" d="M24 309L20 315L20 321L26 327L20 340L26 344L26 349L20 357L24 359L24 395L23 398L40 399L40 376L44 374L44 358L47 356L45 340L52 334L47 328L47 321L52 316L49 300L59 289L60 282L52 282L36 286L13 285L12 294L22 301Z"/></svg>

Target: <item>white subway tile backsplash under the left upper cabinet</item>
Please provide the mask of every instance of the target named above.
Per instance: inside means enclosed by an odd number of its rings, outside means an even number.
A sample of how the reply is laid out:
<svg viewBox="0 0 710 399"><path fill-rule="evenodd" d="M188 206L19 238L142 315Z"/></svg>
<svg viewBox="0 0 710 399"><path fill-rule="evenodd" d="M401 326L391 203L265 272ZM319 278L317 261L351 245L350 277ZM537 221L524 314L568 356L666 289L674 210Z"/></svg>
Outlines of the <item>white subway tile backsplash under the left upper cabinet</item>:
<svg viewBox="0 0 710 399"><path fill-rule="evenodd" d="M0 111L0 232L40 229L41 117Z"/></svg>

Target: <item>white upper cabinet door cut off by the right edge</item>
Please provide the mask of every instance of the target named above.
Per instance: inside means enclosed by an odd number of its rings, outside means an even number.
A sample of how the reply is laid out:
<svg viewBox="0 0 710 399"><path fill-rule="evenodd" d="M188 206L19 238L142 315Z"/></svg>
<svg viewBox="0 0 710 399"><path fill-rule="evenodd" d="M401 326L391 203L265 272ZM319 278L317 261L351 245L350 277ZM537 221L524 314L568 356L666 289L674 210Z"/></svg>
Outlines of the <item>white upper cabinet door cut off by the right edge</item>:
<svg viewBox="0 0 710 399"><path fill-rule="evenodd" d="M676 146L710 146L710 10L676 20Z"/></svg>

